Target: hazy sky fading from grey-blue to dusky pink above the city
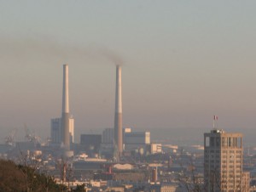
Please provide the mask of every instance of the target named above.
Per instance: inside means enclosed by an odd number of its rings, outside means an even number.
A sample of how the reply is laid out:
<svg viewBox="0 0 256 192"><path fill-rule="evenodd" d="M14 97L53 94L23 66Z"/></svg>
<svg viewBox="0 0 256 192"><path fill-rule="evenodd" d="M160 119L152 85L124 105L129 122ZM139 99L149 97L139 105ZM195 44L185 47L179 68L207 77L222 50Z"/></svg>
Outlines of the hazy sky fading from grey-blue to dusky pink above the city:
<svg viewBox="0 0 256 192"><path fill-rule="evenodd" d="M0 142L15 128L24 138L24 124L49 136L50 119L61 116L63 64L75 137L113 127L117 61L124 127L202 139L216 115L218 127L254 133L255 1L0 5Z"/></svg>

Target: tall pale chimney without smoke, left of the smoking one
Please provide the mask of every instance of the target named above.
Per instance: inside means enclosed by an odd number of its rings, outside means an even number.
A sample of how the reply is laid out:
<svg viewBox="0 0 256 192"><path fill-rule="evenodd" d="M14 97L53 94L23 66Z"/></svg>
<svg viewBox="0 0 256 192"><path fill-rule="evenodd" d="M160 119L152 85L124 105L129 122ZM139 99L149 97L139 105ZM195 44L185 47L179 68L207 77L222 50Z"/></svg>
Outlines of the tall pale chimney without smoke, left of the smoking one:
<svg viewBox="0 0 256 192"><path fill-rule="evenodd" d="M62 143L65 150L70 150L69 141L69 99L68 99L68 65L63 65L63 93L61 115Z"/></svg>

